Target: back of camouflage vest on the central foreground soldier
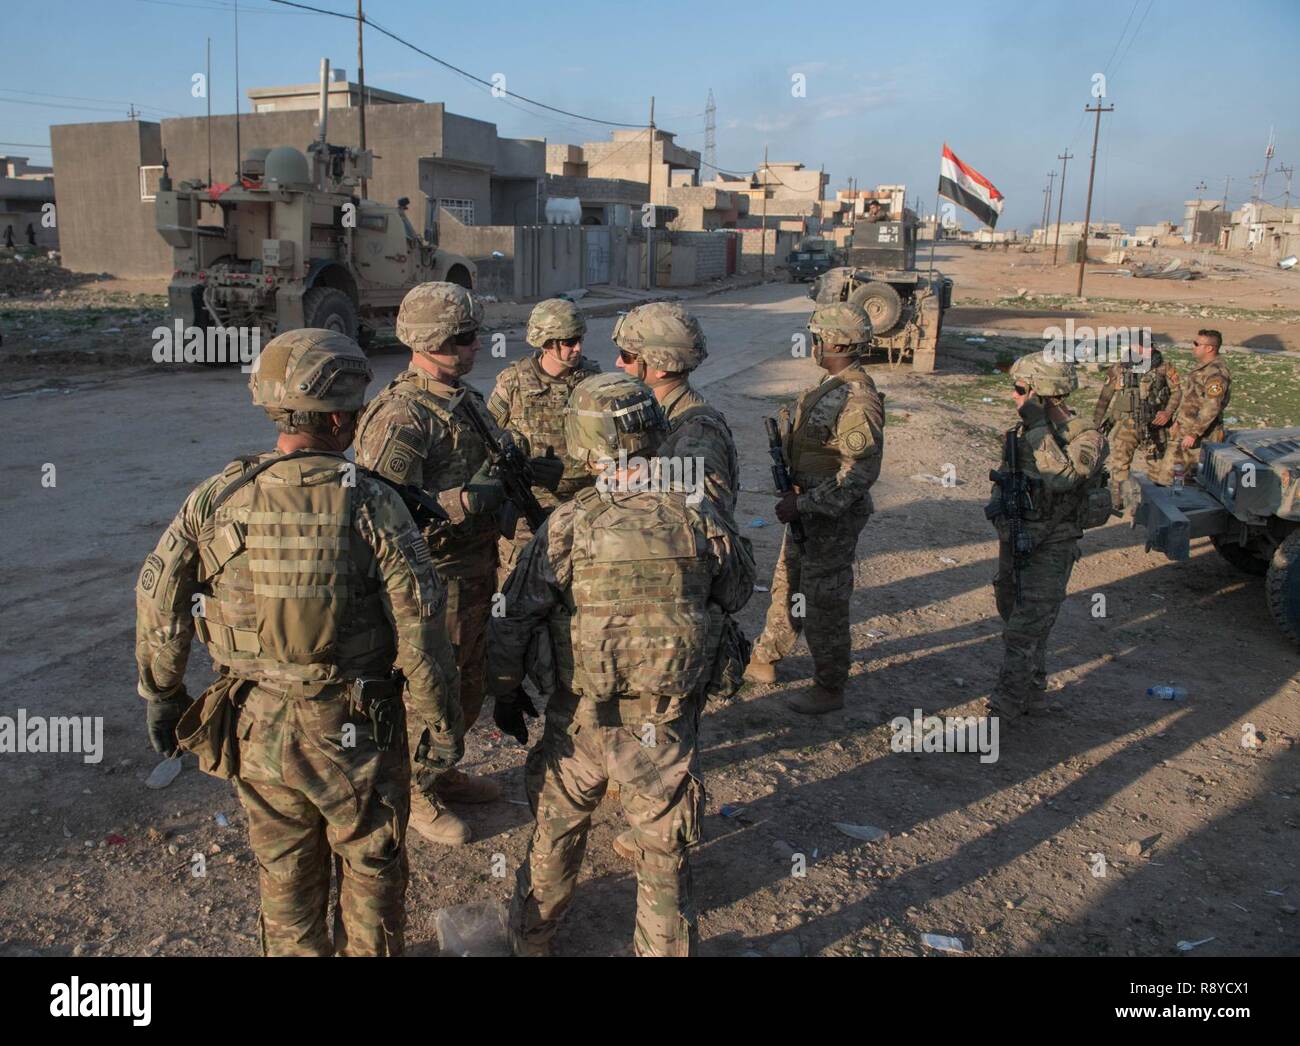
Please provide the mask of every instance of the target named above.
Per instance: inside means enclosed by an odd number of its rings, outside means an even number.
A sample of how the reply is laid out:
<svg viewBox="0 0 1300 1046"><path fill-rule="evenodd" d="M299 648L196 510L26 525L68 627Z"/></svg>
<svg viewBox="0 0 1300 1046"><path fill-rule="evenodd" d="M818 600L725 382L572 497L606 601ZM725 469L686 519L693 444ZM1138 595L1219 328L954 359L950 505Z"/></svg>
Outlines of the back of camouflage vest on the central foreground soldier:
<svg viewBox="0 0 1300 1046"><path fill-rule="evenodd" d="M684 495L588 489L575 502L572 617L567 642L555 643L562 678L595 702L701 693L723 613Z"/></svg>

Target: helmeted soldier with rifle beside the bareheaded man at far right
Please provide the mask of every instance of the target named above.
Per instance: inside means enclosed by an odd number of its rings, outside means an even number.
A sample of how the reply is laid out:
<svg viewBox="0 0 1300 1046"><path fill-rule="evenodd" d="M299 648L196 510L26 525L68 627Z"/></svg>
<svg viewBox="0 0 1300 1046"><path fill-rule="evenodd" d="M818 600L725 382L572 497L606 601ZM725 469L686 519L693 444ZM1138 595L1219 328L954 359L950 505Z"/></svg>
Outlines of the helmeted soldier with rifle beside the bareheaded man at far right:
<svg viewBox="0 0 1300 1046"><path fill-rule="evenodd" d="M1110 443L1110 496L1123 507L1123 483L1134 455L1147 448L1148 468L1160 460L1169 439L1167 426L1183 399L1178 370L1158 348L1150 350L1150 366L1138 374L1131 361L1112 364L1101 395L1092 411L1092 424Z"/></svg>

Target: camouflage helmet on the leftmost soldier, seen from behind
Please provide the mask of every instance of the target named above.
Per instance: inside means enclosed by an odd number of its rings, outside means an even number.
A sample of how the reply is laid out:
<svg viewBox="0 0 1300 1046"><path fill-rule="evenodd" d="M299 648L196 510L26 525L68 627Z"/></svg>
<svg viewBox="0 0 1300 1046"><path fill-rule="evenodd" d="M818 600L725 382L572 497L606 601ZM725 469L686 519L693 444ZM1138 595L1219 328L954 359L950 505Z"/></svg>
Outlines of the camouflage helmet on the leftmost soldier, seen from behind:
<svg viewBox="0 0 1300 1046"><path fill-rule="evenodd" d="M360 411L372 377L361 347L346 334L303 327L266 343L248 376L248 389L257 407L292 431L296 413Z"/></svg>

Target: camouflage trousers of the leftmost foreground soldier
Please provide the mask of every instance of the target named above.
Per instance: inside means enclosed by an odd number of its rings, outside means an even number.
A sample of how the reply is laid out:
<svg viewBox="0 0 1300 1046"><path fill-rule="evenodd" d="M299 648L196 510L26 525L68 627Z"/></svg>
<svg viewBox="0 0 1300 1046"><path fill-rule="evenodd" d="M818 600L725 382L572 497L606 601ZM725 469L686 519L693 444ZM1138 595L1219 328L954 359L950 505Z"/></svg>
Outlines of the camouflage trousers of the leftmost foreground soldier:
<svg viewBox="0 0 1300 1046"><path fill-rule="evenodd" d="M400 955L410 811L403 732L381 752L369 719L346 696L307 700L261 687L248 693L237 732L235 789L260 869L263 954Z"/></svg>

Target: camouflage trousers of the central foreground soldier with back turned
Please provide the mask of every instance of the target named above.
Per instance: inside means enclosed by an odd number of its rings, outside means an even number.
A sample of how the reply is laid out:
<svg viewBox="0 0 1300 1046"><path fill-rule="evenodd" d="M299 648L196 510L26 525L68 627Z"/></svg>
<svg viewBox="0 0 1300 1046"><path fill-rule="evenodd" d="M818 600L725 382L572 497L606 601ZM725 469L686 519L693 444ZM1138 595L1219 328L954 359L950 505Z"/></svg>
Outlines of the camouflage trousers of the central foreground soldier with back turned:
<svg viewBox="0 0 1300 1046"><path fill-rule="evenodd" d="M653 726L590 726L549 716L528 754L537 826L519 868L511 926L549 941L573 898L592 813L610 782L637 847L637 955L694 955L698 943L688 847L699 842L705 786L696 711ZM646 743L647 741L653 743Z"/></svg>

